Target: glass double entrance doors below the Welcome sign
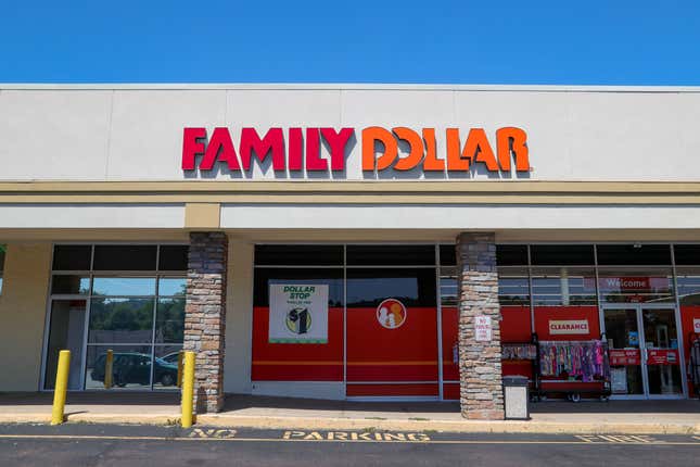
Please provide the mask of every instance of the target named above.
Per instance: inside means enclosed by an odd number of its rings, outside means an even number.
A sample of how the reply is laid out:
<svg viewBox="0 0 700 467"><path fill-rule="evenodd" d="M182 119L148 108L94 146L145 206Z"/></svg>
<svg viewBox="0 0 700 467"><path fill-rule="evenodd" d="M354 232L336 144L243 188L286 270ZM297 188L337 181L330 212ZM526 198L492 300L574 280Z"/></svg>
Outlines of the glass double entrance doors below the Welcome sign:
<svg viewBox="0 0 700 467"><path fill-rule="evenodd" d="M603 310L612 393L628 399L683 395L675 310L625 304Z"/></svg>

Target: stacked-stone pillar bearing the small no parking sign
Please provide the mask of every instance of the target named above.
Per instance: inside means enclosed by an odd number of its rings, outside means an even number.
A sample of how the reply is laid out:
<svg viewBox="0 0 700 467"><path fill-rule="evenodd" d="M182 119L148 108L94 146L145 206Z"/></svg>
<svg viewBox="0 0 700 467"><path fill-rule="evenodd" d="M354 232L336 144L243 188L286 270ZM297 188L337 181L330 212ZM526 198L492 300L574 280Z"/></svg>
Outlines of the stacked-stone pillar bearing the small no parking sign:
<svg viewBox="0 0 700 467"><path fill-rule="evenodd" d="M496 244L492 232L457 237L459 283L459 378L462 416L502 420L500 307ZM491 317L492 338L476 341L478 316Z"/></svg>

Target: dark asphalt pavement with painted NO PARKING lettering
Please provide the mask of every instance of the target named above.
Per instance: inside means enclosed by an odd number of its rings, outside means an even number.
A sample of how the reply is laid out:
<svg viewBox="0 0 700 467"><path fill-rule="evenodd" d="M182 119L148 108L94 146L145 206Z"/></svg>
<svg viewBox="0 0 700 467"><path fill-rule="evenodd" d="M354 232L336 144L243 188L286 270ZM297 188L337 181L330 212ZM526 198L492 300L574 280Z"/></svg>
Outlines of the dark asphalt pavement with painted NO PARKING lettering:
<svg viewBox="0 0 700 467"><path fill-rule="evenodd" d="M695 465L698 436L254 430L66 424L0 426L0 465Z"/></svg>

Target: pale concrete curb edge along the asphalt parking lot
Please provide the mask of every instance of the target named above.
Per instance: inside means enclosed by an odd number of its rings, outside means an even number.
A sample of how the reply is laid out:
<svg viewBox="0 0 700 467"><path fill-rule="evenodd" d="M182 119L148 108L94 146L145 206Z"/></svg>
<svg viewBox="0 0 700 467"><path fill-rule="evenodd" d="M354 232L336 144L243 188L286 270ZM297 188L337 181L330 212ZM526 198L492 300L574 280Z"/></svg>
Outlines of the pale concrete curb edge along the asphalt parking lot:
<svg viewBox="0 0 700 467"><path fill-rule="evenodd" d="M48 424L47 414L0 414L0 424ZM114 425L174 425L179 414L68 414L67 422ZM403 420L362 418L250 417L203 414L196 424L212 427L252 429L300 429L306 431L387 430L445 431L456 433L547 433L547 434L700 434L700 424L631 424L631 422L556 422L556 421L481 421L481 420Z"/></svg>

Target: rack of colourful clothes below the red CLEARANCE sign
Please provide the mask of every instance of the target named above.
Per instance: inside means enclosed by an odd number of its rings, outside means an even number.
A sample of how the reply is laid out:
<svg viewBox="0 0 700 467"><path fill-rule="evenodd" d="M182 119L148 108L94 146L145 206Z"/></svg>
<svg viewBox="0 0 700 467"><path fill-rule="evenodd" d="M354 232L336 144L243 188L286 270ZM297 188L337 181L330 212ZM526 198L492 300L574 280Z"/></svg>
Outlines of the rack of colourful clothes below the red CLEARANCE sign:
<svg viewBox="0 0 700 467"><path fill-rule="evenodd" d="M601 401L608 401L611 394L610 388L610 356L608 353L608 342L604 339L604 336L601 336L600 339L594 340L561 340L561 341L540 341L537 338L537 335L533 335L533 342L537 346L537 358L535 361L535 400L544 400L549 394L565 394L567 399L572 402L581 401L582 394L597 395ZM542 357L545 348L549 352L550 346L590 346L596 345L600 349L600 362L596 362L595 369L598 371L591 371L589 377L584 377L586 370L590 368L583 368L584 365L593 366L593 364L587 361L594 356L586 354L585 352L575 351L576 355L572 359L581 359L580 362L572 365L572 371L568 373L564 370L559 371L561 366L557 363L558 371L546 371L543 375L542 367ZM580 367L576 367L578 365ZM569 368L567 368L569 369ZM588 379L588 380L585 380Z"/></svg>

